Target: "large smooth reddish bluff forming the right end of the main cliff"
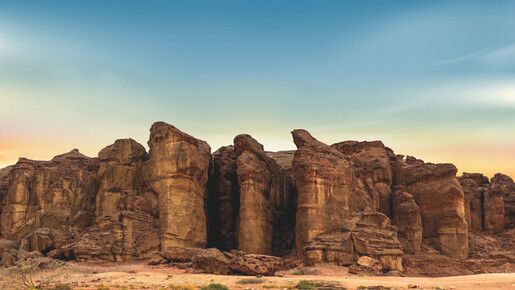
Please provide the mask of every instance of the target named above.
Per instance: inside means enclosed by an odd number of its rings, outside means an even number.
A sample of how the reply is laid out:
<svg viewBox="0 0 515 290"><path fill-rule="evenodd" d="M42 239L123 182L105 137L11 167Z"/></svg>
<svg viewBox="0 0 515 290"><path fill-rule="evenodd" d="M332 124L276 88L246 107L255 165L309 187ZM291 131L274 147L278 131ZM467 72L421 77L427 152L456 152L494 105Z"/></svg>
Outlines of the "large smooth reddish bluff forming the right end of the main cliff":
<svg viewBox="0 0 515 290"><path fill-rule="evenodd" d="M452 164L417 164L396 160L394 176L399 190L413 195L420 207L424 239L445 255L466 258L468 225L456 167Z"/></svg>

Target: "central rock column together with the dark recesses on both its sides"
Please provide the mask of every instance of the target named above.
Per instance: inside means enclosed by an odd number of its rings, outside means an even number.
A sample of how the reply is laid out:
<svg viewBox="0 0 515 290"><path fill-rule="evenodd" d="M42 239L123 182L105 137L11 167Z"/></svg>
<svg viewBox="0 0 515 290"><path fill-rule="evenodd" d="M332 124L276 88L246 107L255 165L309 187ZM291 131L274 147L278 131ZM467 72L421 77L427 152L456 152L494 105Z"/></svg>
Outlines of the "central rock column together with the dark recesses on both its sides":
<svg viewBox="0 0 515 290"><path fill-rule="evenodd" d="M213 245L267 255L291 248L293 181L249 135L236 136L234 147L213 154L209 200Z"/></svg>

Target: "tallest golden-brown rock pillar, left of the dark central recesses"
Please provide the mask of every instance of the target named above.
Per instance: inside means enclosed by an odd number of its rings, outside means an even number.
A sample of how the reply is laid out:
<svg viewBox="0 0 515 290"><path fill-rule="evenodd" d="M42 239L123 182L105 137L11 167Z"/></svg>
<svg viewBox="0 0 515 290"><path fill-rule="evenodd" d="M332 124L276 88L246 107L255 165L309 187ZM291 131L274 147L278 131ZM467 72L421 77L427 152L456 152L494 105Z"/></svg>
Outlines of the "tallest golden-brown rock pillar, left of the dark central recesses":
<svg viewBox="0 0 515 290"><path fill-rule="evenodd" d="M161 246L205 247L211 148L163 122L152 125L148 145L144 178L158 196Z"/></svg>

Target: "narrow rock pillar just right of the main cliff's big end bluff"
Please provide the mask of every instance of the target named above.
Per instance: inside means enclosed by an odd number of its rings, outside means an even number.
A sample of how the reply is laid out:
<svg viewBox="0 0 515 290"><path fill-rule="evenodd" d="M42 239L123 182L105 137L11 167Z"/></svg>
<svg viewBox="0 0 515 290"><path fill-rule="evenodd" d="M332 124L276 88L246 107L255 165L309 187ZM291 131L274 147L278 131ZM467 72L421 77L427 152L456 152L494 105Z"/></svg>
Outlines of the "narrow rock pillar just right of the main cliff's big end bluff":
<svg viewBox="0 0 515 290"><path fill-rule="evenodd" d="M480 173L463 173L458 178L465 194L465 216L471 232L483 231L483 201L488 177Z"/></svg>

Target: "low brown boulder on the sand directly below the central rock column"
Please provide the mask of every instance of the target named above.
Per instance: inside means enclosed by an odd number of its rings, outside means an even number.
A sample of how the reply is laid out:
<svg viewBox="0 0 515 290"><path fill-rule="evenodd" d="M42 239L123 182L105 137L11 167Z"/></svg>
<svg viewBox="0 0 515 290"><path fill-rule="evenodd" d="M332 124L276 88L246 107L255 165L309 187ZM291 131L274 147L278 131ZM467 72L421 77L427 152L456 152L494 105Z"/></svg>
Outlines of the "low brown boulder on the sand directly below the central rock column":
<svg viewBox="0 0 515 290"><path fill-rule="evenodd" d="M283 259L267 255L236 254L229 267L236 273L245 275L272 276L283 265Z"/></svg>

